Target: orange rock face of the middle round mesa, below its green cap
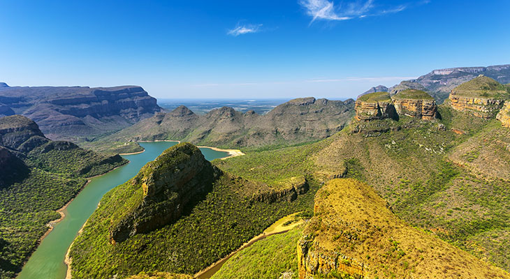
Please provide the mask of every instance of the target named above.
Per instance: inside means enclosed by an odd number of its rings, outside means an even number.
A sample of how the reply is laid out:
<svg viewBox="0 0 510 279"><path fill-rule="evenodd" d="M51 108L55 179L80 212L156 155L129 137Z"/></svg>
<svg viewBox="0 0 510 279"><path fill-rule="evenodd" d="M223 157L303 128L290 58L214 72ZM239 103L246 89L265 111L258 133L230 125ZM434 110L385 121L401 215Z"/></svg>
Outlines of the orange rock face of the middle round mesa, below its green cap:
<svg viewBox="0 0 510 279"><path fill-rule="evenodd" d="M396 99L393 102L399 115L407 115L423 120L437 118L435 100Z"/></svg>

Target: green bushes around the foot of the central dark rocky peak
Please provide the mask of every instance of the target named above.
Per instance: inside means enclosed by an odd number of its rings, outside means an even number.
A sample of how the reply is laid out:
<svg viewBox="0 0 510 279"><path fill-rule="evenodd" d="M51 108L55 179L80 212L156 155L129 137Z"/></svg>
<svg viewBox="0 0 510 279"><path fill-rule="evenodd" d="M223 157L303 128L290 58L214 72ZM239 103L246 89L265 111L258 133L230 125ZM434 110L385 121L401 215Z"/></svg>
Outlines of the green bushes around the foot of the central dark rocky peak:
<svg viewBox="0 0 510 279"><path fill-rule="evenodd" d="M73 278L129 276L141 271L196 273L279 218L311 208L319 188L319 183L312 180L309 192L293 202L254 202L245 194L256 191L257 184L226 174L204 199L184 209L184 215L175 223L112 245L108 228L114 221L112 214L123 208L119 201L132 195L129 183L103 197L101 206L73 243Z"/></svg>

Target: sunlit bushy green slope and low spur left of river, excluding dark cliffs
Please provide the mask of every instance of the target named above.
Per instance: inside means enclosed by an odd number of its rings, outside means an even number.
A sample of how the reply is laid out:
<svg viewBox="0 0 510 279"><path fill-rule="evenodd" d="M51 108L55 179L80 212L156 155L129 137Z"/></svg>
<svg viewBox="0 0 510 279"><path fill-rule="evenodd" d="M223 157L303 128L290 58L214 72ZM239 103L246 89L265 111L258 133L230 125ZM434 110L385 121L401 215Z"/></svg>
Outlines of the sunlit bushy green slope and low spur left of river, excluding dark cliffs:
<svg viewBox="0 0 510 279"><path fill-rule="evenodd" d="M87 176L108 172L126 163L110 161L92 151L70 149L40 153L26 160L29 176L0 190L0 278L13 278L47 232L56 212L78 194ZM84 167L90 166L84 170ZM88 170L88 171L87 171ZM80 173L85 172L85 173Z"/></svg>

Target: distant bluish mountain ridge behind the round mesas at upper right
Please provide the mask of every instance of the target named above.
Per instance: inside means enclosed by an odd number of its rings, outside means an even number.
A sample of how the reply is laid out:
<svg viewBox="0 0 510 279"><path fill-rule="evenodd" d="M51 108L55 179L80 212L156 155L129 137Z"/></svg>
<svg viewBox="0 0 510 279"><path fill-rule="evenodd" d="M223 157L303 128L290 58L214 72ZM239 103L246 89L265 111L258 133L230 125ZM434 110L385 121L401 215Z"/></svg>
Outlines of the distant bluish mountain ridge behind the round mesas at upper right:
<svg viewBox="0 0 510 279"><path fill-rule="evenodd" d="M437 103L441 104L448 98L456 86L478 77L486 75L497 82L507 84L510 82L510 65L488 67L460 67L432 70L432 72L416 78L406 80L388 89L392 95L405 89L418 89L428 91Z"/></svg>

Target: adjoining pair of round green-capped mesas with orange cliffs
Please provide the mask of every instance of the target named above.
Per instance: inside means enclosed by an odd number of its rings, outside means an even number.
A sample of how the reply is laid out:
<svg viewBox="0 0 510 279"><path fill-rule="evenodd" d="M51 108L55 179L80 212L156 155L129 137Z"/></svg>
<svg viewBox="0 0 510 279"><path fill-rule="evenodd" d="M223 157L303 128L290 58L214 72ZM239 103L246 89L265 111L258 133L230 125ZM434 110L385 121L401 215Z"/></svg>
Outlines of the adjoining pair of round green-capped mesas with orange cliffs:
<svg viewBox="0 0 510 279"><path fill-rule="evenodd" d="M416 89L399 91L393 97L388 92L367 93L359 96L355 109L358 121L397 120L403 115L423 120L437 118L434 98Z"/></svg>

